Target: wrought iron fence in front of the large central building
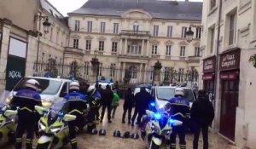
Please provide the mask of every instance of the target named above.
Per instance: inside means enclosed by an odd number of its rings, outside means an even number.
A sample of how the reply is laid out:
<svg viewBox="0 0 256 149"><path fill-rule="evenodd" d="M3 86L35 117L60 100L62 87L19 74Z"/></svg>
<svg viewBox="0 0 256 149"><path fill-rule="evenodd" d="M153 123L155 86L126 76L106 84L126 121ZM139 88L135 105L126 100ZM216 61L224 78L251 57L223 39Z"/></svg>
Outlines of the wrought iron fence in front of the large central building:
<svg viewBox="0 0 256 149"><path fill-rule="evenodd" d="M55 64L55 61L49 63L35 63L34 76L45 77L50 75L52 77L60 76L61 78L76 77L90 83L95 83L93 80L93 69L90 64L79 65L73 62L70 65ZM173 68L162 69L160 71L160 84L170 85L175 83L181 85L188 83L194 85L198 84L198 72L195 70L183 72L177 71ZM142 70L136 67L129 69L119 68L117 66L99 66L98 79L112 80L119 82L119 84L137 85L137 84L154 84L154 68L143 68Z"/></svg>

